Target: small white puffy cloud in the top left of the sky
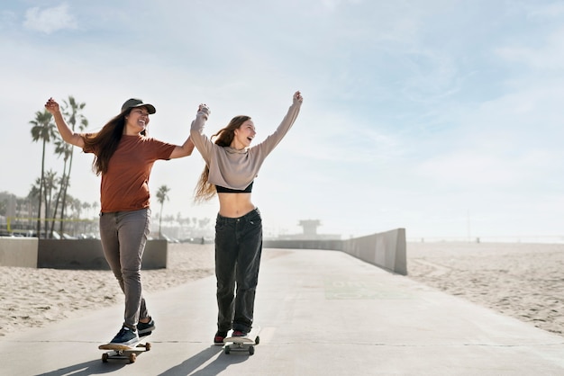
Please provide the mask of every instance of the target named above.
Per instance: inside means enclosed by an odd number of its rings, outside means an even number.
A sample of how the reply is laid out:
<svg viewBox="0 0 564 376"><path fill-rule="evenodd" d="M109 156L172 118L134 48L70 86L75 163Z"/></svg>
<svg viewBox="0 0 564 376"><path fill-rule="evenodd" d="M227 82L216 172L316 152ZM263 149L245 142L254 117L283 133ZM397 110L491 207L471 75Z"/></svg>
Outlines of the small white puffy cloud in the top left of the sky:
<svg viewBox="0 0 564 376"><path fill-rule="evenodd" d="M77 21L72 14L68 13L67 4L44 10L36 6L25 13L23 26L30 30L50 34L58 30L77 29Z"/></svg>

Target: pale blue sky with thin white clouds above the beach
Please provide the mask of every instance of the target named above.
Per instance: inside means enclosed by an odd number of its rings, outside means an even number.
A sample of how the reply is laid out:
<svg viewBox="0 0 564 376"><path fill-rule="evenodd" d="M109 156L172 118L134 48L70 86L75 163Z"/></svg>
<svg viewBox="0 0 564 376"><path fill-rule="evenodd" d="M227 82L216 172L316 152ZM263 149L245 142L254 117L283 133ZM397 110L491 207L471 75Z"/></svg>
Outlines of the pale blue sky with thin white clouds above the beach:
<svg viewBox="0 0 564 376"><path fill-rule="evenodd" d="M87 131L125 100L152 103L150 136L182 144L199 103L208 135L252 117L255 142L304 96L252 199L265 236L564 237L564 3L491 0L5 1L0 4L0 192L41 175L35 112L86 103ZM47 149L46 169L62 171ZM99 201L75 148L70 194ZM157 161L165 215L195 204L204 162Z"/></svg>

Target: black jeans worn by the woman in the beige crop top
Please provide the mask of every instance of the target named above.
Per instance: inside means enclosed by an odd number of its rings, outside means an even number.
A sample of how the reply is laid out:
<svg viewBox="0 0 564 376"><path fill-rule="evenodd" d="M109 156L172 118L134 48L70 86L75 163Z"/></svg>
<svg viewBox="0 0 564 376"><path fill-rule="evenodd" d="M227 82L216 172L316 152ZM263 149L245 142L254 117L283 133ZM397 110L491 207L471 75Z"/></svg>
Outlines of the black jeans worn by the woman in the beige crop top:
<svg viewBox="0 0 564 376"><path fill-rule="evenodd" d="M251 210L240 218L217 215L215 277L219 331L250 331L261 253L262 219L259 209Z"/></svg>

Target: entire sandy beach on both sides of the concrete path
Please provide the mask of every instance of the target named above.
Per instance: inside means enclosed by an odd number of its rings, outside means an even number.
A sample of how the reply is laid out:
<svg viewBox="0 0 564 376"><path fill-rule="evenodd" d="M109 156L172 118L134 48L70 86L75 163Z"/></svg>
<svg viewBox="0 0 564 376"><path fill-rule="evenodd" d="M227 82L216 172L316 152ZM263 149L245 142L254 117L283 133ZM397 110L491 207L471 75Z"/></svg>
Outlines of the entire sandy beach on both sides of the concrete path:
<svg viewBox="0 0 564 376"><path fill-rule="evenodd" d="M288 251L265 249L263 261ZM564 336L564 245L408 243L405 278ZM214 245L169 244L168 267L141 272L144 291L214 274ZM115 304L109 271L0 266L0 337Z"/></svg>

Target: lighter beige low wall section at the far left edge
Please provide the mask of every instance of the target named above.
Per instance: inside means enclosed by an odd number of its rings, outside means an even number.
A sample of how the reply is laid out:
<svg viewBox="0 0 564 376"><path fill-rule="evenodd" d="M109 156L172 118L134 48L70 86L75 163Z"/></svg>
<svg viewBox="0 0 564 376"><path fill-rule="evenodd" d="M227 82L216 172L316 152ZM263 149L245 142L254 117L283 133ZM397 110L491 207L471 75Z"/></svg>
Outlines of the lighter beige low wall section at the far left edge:
<svg viewBox="0 0 564 376"><path fill-rule="evenodd" d="M0 266L37 267L37 237L0 237Z"/></svg>

